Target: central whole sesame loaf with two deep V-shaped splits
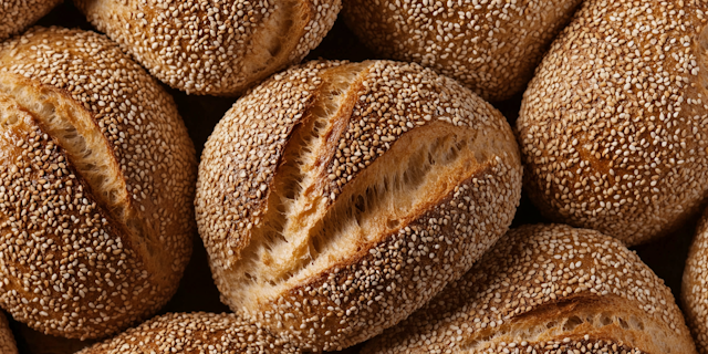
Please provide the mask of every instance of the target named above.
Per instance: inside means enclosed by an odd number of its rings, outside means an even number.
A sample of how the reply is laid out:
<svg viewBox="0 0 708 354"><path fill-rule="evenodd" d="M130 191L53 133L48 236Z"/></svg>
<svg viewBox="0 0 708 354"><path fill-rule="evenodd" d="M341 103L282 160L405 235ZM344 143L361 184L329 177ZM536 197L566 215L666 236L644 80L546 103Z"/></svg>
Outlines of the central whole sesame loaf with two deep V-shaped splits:
<svg viewBox="0 0 708 354"><path fill-rule="evenodd" d="M501 237L520 199L504 117L417 64L311 62L205 146L197 225L222 301L303 350L392 326Z"/></svg>

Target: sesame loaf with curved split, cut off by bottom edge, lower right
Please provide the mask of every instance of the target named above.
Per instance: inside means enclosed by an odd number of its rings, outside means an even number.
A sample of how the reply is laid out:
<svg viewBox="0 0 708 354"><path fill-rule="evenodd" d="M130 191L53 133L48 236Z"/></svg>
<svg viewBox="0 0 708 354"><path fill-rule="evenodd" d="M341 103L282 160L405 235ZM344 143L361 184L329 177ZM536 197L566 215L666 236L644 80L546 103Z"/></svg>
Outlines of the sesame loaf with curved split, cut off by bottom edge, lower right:
<svg viewBox="0 0 708 354"><path fill-rule="evenodd" d="M509 231L363 353L696 353L669 289L621 242L568 226Z"/></svg>

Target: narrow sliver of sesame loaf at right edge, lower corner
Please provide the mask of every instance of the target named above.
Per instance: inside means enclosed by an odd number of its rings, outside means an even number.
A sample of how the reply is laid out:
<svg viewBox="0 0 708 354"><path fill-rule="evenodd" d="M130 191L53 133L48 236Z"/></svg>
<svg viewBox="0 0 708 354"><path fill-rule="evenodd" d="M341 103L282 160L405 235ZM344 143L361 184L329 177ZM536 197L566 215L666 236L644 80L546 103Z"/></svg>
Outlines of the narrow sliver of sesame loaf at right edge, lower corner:
<svg viewBox="0 0 708 354"><path fill-rule="evenodd" d="M708 210L698 223L696 238L688 252L681 301L688 327L701 354L708 354Z"/></svg>

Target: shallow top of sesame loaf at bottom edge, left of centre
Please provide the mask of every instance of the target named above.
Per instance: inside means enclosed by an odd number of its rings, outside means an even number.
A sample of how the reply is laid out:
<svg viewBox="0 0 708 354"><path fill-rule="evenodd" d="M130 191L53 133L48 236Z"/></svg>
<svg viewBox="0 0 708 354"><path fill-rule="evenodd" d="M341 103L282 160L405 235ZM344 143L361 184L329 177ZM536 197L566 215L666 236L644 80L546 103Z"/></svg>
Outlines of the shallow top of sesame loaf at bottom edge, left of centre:
<svg viewBox="0 0 708 354"><path fill-rule="evenodd" d="M300 353L232 313L168 313L76 354Z"/></svg>

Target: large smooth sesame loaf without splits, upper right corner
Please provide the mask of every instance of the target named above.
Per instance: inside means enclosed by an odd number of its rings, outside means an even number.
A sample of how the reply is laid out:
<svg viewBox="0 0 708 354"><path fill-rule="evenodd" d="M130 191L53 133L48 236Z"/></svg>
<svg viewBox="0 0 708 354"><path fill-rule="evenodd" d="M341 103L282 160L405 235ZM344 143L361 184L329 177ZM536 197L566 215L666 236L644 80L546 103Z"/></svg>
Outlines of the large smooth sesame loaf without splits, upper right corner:
<svg viewBox="0 0 708 354"><path fill-rule="evenodd" d="M708 191L708 2L583 4L524 94L525 186L546 217L628 246L667 235Z"/></svg>

